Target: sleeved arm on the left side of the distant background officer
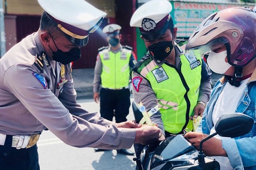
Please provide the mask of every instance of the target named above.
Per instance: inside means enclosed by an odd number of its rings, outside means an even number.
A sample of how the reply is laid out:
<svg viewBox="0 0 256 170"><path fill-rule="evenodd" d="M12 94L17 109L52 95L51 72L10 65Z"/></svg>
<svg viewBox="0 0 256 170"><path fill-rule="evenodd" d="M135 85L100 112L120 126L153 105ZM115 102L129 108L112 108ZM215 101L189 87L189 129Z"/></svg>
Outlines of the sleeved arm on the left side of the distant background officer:
<svg viewBox="0 0 256 170"><path fill-rule="evenodd" d="M101 73L102 73L102 62L98 54L95 68L94 68L93 93L99 92L99 86L101 85Z"/></svg>

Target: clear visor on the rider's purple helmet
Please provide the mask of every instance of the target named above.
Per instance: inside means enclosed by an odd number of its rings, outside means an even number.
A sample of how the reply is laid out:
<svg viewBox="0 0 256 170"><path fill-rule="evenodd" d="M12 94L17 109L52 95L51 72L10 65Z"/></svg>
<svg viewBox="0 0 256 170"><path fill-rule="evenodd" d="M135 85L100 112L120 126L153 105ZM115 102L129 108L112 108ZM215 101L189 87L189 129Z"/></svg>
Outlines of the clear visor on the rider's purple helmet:
<svg viewBox="0 0 256 170"><path fill-rule="evenodd" d="M187 49L185 51L185 54L194 53L196 55L196 58L203 58L204 55L210 54L211 51L215 51L215 50L222 49L222 48L225 48L224 50L227 50L227 48L226 48L227 46L229 46L229 40L224 37L220 37L220 38L217 38L217 39L214 39L214 40L208 42L205 45ZM229 51L229 50L227 50L227 51Z"/></svg>

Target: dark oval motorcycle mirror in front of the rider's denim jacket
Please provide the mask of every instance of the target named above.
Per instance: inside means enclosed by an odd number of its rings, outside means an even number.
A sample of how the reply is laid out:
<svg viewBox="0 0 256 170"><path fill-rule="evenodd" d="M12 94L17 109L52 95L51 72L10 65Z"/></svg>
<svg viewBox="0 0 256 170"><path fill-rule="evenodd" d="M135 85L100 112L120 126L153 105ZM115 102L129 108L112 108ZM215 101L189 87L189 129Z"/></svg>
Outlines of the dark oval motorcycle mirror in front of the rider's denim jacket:
<svg viewBox="0 0 256 170"><path fill-rule="evenodd" d="M221 115L215 125L215 131L219 136L236 138L249 133L254 120L242 113Z"/></svg>

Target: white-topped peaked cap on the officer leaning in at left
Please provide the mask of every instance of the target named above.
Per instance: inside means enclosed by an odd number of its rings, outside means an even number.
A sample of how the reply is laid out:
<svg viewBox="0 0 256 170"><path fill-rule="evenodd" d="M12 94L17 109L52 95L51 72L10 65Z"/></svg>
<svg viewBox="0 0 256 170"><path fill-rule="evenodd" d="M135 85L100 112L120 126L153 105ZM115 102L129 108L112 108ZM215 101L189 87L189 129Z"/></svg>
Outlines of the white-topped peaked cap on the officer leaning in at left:
<svg viewBox="0 0 256 170"><path fill-rule="evenodd" d="M48 17L75 45L85 46L106 13L84 0L38 0Z"/></svg>

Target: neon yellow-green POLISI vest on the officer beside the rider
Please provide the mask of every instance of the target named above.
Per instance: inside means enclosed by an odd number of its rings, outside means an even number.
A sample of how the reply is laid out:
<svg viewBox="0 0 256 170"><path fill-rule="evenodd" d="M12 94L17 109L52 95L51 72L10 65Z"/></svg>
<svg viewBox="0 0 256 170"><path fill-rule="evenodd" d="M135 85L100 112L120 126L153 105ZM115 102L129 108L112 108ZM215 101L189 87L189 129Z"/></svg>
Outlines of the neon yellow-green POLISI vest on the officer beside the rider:
<svg viewBox="0 0 256 170"><path fill-rule="evenodd" d="M197 57L195 54L181 55L181 66L178 69L169 63L158 67L150 55L145 55L142 59L144 61L139 62L140 66L133 69L150 82L157 97L165 131L172 134L193 128L193 121L189 117L194 114L193 109L197 104L202 70L202 60L200 56Z"/></svg>

